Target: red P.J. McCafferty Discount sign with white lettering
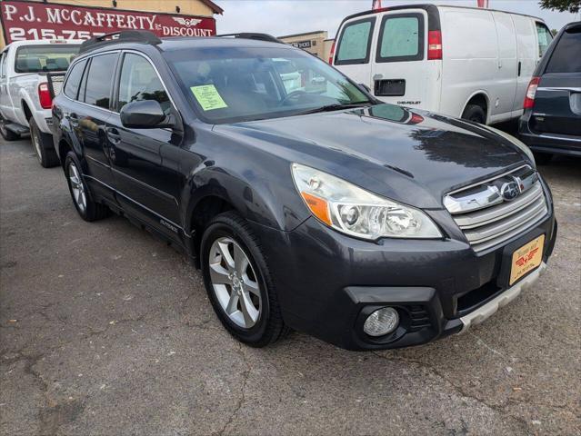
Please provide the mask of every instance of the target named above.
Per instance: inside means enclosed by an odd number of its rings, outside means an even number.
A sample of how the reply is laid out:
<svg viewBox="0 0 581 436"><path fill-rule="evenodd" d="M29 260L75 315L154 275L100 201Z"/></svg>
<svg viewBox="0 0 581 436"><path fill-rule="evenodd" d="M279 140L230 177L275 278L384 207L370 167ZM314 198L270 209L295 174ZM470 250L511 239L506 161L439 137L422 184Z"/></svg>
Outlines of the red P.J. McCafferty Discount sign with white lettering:
<svg viewBox="0 0 581 436"><path fill-rule="evenodd" d="M207 16L171 15L27 1L0 2L6 44L25 39L88 39L120 30L163 36L215 35Z"/></svg>

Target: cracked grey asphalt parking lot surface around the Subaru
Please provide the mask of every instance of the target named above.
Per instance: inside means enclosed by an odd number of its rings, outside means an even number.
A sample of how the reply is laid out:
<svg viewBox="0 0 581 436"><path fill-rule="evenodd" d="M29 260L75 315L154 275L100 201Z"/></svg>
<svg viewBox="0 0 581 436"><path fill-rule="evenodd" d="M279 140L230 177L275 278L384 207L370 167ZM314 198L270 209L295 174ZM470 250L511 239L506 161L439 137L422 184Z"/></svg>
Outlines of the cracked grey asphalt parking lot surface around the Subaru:
<svg viewBox="0 0 581 436"><path fill-rule="evenodd" d="M85 223L59 167L0 142L0 434L579 434L580 166L541 167L549 268L470 332L389 352L293 332L256 350L182 255L123 218Z"/></svg>

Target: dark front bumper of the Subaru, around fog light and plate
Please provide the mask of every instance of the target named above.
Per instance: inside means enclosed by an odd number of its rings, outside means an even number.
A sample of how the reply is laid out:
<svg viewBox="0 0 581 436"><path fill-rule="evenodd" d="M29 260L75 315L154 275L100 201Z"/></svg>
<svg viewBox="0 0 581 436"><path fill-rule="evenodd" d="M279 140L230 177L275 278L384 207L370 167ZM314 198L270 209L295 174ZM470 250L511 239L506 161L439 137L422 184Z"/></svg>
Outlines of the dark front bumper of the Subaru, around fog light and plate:
<svg viewBox="0 0 581 436"><path fill-rule="evenodd" d="M556 220L549 206L533 228L486 253L475 253L457 229L446 240L370 243L309 218L292 232L260 226L256 233L268 241L263 248L290 327L347 350L380 350L466 331L514 300L553 251ZM507 257L540 234L546 235L543 264L509 287ZM400 315L396 332L366 335L366 316L385 306Z"/></svg>

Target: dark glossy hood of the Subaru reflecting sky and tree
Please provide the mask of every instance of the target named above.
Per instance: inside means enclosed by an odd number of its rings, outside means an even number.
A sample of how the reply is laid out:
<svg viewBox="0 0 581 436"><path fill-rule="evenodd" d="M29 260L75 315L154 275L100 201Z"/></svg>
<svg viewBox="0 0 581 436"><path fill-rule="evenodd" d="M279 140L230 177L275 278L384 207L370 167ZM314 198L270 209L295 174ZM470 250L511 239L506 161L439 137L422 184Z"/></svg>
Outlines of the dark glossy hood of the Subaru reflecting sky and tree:
<svg viewBox="0 0 581 436"><path fill-rule="evenodd" d="M445 193L528 162L484 126L393 104L219 124L215 132L423 208L441 208Z"/></svg>

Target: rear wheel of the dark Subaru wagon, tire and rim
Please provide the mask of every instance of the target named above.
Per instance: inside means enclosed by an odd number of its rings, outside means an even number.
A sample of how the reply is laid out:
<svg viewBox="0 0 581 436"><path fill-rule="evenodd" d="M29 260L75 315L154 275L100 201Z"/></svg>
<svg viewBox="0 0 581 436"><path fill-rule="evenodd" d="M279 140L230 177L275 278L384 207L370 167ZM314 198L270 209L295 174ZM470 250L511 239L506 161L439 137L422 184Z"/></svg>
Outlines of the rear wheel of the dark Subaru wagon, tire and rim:
<svg viewBox="0 0 581 436"><path fill-rule="evenodd" d="M75 203L76 212L81 215L81 218L91 222L105 218L109 214L109 209L105 204L95 203L93 201L83 179L81 165L73 152L69 152L66 155L65 176L71 197L73 197L73 203Z"/></svg>

